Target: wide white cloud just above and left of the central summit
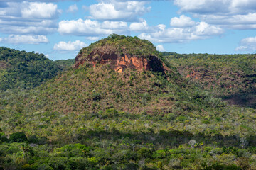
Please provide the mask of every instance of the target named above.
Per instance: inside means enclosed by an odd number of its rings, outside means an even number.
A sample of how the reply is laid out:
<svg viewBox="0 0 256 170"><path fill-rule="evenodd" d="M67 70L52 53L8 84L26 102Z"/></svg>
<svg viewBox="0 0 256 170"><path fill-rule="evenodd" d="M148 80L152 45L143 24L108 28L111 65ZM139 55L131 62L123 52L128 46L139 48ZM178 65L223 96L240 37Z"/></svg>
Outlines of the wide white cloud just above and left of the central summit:
<svg viewBox="0 0 256 170"><path fill-rule="evenodd" d="M122 21L98 21L87 20L71 20L60 21L58 32L62 35L78 35L87 37L97 37L100 35L109 35L112 33L127 33L127 23Z"/></svg>

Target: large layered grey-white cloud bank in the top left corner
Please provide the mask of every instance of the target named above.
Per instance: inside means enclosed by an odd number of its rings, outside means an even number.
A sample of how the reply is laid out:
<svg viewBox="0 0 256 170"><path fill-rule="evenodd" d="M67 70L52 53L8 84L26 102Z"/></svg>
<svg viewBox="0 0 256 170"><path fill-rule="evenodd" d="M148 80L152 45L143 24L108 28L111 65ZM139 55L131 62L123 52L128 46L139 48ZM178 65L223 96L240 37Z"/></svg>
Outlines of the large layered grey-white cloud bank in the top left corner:
<svg viewBox="0 0 256 170"><path fill-rule="evenodd" d="M57 30L57 5L23 1L7 2L0 11L0 32L15 35L46 35Z"/></svg>

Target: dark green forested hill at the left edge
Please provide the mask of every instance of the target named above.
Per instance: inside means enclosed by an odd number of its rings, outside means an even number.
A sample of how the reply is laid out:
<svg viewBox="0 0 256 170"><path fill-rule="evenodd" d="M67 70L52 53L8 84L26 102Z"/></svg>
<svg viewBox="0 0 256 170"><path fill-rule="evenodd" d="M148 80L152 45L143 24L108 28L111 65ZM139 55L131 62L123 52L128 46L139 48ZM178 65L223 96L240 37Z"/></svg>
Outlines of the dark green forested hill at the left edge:
<svg viewBox="0 0 256 170"><path fill-rule="evenodd" d="M43 54L0 47L0 90L38 86L61 67Z"/></svg>

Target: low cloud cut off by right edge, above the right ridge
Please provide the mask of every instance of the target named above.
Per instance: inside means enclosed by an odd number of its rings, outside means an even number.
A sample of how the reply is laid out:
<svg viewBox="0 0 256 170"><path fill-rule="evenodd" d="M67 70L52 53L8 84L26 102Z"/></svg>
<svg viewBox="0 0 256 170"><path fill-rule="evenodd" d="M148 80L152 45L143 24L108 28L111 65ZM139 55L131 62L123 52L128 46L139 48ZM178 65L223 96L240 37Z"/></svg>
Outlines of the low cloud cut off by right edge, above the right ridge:
<svg viewBox="0 0 256 170"><path fill-rule="evenodd" d="M237 51L254 51L256 50L256 37L244 38L240 41L240 46L235 50Z"/></svg>

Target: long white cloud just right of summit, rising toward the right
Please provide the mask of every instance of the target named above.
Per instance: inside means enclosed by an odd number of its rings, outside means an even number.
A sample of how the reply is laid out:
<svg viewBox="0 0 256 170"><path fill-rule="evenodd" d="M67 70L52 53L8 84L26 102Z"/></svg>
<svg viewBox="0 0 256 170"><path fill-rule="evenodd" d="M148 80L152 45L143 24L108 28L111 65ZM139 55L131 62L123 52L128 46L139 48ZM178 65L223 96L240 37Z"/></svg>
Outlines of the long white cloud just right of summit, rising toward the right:
<svg viewBox="0 0 256 170"><path fill-rule="evenodd" d="M213 35L223 34L223 32L222 28L205 22L198 22L195 26L187 28L166 28L164 24L160 24L157 30L151 33L141 33L139 38L159 43L188 42L210 38Z"/></svg>

